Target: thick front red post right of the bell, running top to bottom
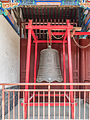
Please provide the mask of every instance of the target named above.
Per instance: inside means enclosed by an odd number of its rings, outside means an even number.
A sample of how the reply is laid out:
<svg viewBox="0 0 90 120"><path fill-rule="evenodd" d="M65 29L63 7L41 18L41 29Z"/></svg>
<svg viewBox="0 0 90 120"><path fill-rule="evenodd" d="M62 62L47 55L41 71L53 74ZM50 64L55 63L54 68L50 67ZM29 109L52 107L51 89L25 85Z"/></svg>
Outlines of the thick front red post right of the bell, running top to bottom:
<svg viewBox="0 0 90 120"><path fill-rule="evenodd" d="M67 20L67 40L68 40L68 63L69 63L69 81L70 83L73 83L73 72L72 72L72 56L71 56L71 35L70 35L70 23L69 20ZM70 85L70 89L73 90L73 85ZM74 119L74 96L73 91L70 92L70 101L71 101L71 116L72 119Z"/></svg>

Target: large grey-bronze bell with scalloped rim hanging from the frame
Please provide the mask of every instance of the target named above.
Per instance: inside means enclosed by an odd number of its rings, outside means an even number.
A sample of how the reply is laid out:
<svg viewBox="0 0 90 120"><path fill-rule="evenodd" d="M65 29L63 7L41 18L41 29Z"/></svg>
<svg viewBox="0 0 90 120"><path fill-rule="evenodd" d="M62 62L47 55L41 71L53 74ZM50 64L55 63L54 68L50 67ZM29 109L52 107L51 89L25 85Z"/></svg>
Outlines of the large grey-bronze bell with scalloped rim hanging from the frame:
<svg viewBox="0 0 90 120"><path fill-rule="evenodd" d="M62 82L58 51L48 46L40 52L37 82Z"/></svg>

